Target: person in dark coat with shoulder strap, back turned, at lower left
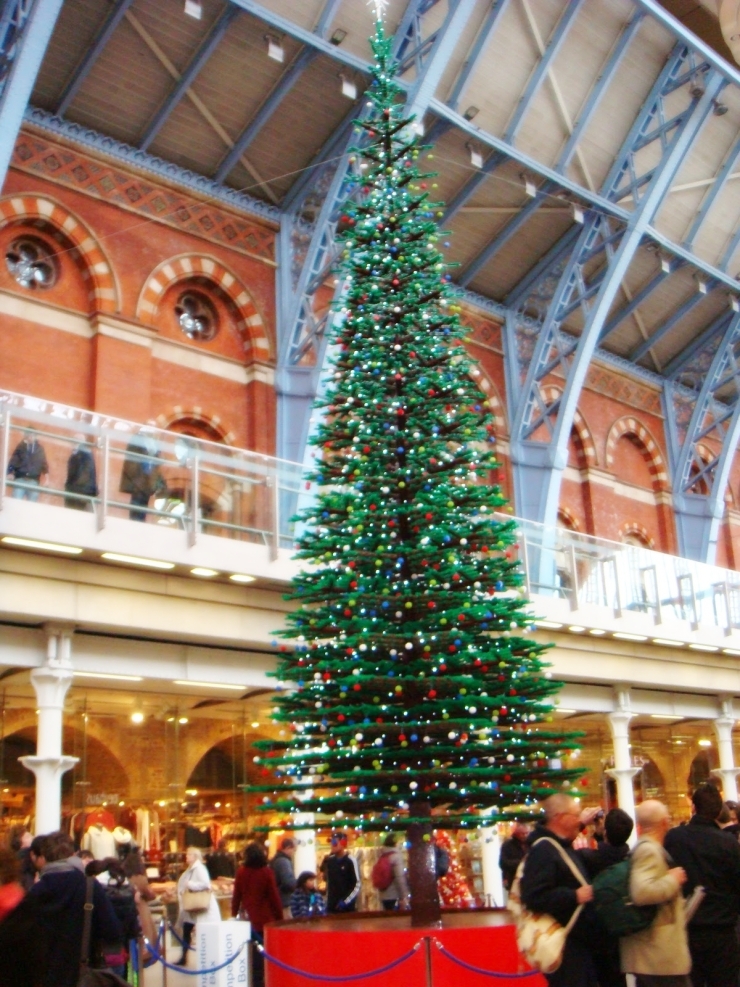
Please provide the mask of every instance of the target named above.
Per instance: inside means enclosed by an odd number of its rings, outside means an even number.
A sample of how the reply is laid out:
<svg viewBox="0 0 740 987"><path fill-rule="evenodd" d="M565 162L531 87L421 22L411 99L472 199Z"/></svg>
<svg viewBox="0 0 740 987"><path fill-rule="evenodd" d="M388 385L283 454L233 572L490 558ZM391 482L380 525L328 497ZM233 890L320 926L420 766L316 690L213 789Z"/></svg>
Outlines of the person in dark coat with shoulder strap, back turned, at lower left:
<svg viewBox="0 0 740 987"><path fill-rule="evenodd" d="M44 865L28 898L35 906L38 939L43 945L40 985L75 987L80 974L87 879L80 870L81 861L73 858L74 847L66 834L43 837L39 849ZM105 891L93 881L93 956L96 944L122 939L123 929ZM9 948L12 951L12 944ZM0 968L4 962L0 953Z"/></svg>

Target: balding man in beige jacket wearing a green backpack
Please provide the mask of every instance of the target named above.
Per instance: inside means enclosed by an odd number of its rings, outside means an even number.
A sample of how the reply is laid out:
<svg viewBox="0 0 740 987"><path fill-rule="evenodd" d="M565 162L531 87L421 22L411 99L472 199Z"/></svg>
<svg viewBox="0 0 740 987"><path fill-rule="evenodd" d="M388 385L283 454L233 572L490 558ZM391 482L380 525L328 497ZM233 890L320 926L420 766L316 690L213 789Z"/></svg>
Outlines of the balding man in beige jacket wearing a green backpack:
<svg viewBox="0 0 740 987"><path fill-rule="evenodd" d="M684 924L683 867L671 867L663 847L671 820L667 806L648 799L637 806L640 834L630 861L629 895L635 905L657 905L655 920L619 940L624 973L637 987L691 987L691 956Z"/></svg>

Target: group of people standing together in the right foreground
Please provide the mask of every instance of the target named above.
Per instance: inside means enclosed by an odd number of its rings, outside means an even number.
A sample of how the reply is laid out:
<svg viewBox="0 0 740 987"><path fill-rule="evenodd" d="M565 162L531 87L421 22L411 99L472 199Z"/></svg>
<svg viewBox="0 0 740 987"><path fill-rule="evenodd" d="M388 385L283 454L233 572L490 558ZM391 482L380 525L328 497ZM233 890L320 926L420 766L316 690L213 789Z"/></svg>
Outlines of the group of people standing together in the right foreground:
<svg viewBox="0 0 740 987"><path fill-rule="evenodd" d="M736 809L712 784L692 796L687 824L672 826L656 799L637 806L638 840L621 809L604 814L595 847L578 847L590 813L575 799L553 795L530 831L518 824L501 847L504 886L530 913L569 928L550 987L738 987L740 976L740 844ZM628 861L626 908L652 906L629 935L610 932L600 910L600 884Z"/></svg>

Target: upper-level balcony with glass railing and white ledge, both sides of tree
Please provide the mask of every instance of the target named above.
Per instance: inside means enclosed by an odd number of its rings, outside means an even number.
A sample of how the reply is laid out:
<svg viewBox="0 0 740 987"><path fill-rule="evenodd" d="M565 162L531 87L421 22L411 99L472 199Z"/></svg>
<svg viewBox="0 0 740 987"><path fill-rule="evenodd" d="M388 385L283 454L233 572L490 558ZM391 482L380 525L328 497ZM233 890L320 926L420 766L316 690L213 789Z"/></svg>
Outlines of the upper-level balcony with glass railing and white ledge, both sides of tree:
<svg viewBox="0 0 740 987"><path fill-rule="evenodd" d="M290 518L311 496L299 464L0 391L4 464L24 435L43 446L48 474L41 487L0 485L0 545L276 588L294 573ZM80 449L97 493L65 489ZM122 492L127 471L149 478L146 504ZM519 524L540 626L740 656L740 573Z"/></svg>

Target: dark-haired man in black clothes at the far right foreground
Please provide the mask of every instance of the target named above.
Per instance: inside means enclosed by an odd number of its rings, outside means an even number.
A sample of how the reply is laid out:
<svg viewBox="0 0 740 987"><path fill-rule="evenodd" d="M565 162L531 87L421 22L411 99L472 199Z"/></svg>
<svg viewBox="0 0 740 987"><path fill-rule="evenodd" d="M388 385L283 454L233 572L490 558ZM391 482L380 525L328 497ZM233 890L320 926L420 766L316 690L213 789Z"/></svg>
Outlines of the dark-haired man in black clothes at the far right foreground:
<svg viewBox="0 0 740 987"><path fill-rule="evenodd" d="M722 796L714 785L699 785L691 797L688 826L666 834L666 852L686 871L684 891L701 886L706 897L689 922L691 982L694 987L737 984L740 949L735 927L740 915L740 844L717 825Z"/></svg>

